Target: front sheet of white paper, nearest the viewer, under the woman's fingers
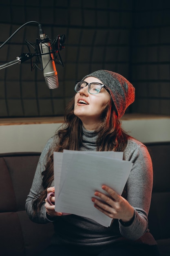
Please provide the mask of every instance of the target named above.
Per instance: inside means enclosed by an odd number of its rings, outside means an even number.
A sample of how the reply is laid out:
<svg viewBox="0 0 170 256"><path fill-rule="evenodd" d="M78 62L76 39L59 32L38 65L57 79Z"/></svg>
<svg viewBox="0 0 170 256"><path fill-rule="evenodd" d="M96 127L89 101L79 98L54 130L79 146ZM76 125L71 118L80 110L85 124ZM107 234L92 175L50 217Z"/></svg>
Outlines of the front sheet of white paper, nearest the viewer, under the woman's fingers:
<svg viewBox="0 0 170 256"><path fill-rule="evenodd" d="M69 171L55 202L55 211L91 218L105 227L110 226L112 219L95 209L91 198L95 191L102 191L102 184L112 187L121 194L132 163L95 154L77 156L75 153L63 153L62 160L61 173L68 162Z"/></svg>

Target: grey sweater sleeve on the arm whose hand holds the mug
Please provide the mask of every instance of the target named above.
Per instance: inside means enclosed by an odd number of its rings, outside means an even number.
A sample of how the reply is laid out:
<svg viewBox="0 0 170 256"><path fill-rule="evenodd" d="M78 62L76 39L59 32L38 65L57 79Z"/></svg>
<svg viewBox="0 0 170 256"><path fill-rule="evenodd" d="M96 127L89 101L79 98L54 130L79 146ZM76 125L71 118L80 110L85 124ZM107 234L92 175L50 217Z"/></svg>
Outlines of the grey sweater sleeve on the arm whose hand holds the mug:
<svg viewBox="0 0 170 256"><path fill-rule="evenodd" d="M32 183L29 195L26 198L26 204L25 204L26 213L28 214L29 218L33 222L37 222L37 223L50 222L50 220L48 220L48 218L46 217L46 209L44 207L45 201L42 204L40 212L38 212L36 214L33 213L33 205L32 204L33 204L33 200L35 200L37 195L41 191L44 190L42 187L42 172L45 170L46 162L52 153L53 141L54 141L54 137L52 137L51 139L49 139L47 141L47 143L44 147L44 150L42 151L42 153L40 155L40 159L38 161L38 165L37 165L35 175L33 178L33 183Z"/></svg>

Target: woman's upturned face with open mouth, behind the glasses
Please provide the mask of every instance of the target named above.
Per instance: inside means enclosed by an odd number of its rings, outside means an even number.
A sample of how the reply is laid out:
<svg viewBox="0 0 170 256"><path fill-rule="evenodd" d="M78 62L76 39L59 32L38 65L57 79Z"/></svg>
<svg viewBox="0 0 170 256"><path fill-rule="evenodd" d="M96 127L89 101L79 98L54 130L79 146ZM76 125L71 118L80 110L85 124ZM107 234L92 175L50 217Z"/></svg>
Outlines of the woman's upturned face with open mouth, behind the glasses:
<svg viewBox="0 0 170 256"><path fill-rule="evenodd" d="M93 76L87 77L84 81L102 83ZM87 85L75 94L74 114L82 120L87 130L95 130L101 121L101 112L109 100L110 94L104 88L98 94L90 94Z"/></svg>

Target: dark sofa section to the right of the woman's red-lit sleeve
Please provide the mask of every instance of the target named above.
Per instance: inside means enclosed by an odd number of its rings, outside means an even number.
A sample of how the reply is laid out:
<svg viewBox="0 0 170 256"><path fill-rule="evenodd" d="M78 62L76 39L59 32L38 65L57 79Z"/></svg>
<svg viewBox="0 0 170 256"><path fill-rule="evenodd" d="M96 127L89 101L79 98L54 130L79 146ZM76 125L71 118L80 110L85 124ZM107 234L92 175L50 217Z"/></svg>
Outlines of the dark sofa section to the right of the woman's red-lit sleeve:
<svg viewBox="0 0 170 256"><path fill-rule="evenodd" d="M170 142L147 143L153 163L149 229L161 256L170 255Z"/></svg>

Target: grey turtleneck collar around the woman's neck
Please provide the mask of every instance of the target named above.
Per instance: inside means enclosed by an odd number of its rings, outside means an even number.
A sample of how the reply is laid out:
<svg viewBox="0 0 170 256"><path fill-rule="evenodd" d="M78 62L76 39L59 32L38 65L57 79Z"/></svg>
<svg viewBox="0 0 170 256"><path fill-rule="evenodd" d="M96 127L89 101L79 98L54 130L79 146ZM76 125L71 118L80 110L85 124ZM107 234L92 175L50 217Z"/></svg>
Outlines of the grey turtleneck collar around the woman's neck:
<svg viewBox="0 0 170 256"><path fill-rule="evenodd" d="M80 150L93 150L96 151L96 140L97 140L97 133L93 131L86 130L84 126L82 126L83 129L83 136L82 136L82 142L83 145L80 148Z"/></svg>

